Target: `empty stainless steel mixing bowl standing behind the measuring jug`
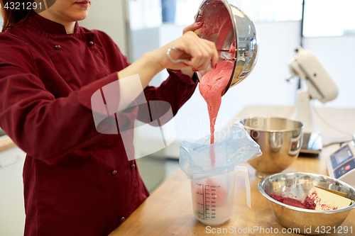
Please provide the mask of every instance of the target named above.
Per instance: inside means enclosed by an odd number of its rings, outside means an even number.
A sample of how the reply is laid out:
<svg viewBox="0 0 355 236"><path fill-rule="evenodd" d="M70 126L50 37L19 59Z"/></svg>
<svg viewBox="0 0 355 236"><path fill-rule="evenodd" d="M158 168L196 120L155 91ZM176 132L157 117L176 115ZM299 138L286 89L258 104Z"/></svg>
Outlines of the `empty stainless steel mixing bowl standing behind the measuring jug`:
<svg viewBox="0 0 355 236"><path fill-rule="evenodd" d="M300 154L302 123L271 116L246 118L240 123L263 152L260 157L248 161L259 178L282 172Z"/></svg>

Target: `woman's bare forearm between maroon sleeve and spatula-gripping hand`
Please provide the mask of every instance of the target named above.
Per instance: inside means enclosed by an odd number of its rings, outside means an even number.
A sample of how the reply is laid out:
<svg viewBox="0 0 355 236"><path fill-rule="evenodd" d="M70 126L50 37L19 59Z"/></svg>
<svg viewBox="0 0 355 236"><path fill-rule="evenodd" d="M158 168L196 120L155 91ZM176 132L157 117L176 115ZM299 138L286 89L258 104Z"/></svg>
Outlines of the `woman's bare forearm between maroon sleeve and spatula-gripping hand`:
<svg viewBox="0 0 355 236"><path fill-rule="evenodd" d="M118 75L119 79L123 79L133 74L138 74L141 79L142 87L145 89L155 74L158 74L163 69L164 68L160 65L158 60L153 57L153 53L146 52L136 62L133 62L129 65L129 67L126 67L118 72Z"/></svg>

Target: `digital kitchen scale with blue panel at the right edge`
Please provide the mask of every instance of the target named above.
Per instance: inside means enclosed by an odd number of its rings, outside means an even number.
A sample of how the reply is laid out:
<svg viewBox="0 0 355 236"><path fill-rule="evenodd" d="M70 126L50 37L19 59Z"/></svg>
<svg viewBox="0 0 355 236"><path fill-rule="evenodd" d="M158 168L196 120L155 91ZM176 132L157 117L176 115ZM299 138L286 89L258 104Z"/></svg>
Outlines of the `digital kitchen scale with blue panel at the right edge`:
<svg viewBox="0 0 355 236"><path fill-rule="evenodd" d="M355 143L344 143L327 158L328 174L355 187Z"/></svg>

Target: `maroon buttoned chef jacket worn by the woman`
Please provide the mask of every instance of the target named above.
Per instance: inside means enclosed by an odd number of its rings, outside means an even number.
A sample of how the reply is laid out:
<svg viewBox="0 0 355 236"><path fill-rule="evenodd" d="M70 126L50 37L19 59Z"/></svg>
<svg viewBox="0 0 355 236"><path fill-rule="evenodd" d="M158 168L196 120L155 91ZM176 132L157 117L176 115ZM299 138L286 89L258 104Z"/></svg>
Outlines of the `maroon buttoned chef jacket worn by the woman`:
<svg viewBox="0 0 355 236"><path fill-rule="evenodd" d="M105 33L76 24L67 35L36 13L0 33L0 126L27 153L25 235L109 235L147 198L121 135L98 133L91 111L92 94L128 65ZM168 72L144 92L175 115L197 82Z"/></svg>

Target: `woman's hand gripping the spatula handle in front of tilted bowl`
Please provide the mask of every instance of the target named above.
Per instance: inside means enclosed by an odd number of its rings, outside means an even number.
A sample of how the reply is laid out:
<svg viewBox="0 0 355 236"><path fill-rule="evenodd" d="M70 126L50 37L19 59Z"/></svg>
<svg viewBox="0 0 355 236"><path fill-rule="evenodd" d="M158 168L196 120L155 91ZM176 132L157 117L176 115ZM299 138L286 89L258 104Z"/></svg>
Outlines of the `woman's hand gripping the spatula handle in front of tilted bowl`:
<svg viewBox="0 0 355 236"><path fill-rule="evenodd" d="M157 60L160 67L163 69L192 67L194 71L198 71L206 69L209 64L211 64L212 68L215 68L219 58L216 46L213 42L199 38L192 32L201 28L201 26L202 23L193 23L191 26L187 26L184 29L184 34L180 38L154 50L151 52L151 56ZM166 54L170 47L175 47L179 50L170 51L170 55L174 60L186 59L187 62L171 62Z"/></svg>

